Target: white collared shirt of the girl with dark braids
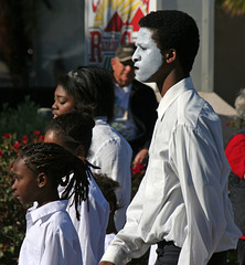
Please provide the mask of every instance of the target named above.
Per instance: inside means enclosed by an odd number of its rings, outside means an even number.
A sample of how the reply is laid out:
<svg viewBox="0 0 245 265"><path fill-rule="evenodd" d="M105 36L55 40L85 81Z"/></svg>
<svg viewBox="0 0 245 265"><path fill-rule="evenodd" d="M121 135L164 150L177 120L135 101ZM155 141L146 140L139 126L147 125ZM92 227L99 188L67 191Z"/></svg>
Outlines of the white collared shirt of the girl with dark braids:
<svg viewBox="0 0 245 265"><path fill-rule="evenodd" d="M78 235L66 206L67 200L63 200L28 210L19 265L83 264Z"/></svg>

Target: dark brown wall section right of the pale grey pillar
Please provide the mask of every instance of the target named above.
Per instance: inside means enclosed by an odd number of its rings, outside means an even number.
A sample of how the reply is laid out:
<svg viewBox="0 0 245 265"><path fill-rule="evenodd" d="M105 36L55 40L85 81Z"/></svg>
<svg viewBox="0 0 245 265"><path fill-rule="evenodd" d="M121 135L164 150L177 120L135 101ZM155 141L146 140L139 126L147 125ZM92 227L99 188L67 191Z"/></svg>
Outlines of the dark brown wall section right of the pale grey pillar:
<svg viewBox="0 0 245 265"><path fill-rule="evenodd" d="M235 97L245 87L245 15L231 17L215 9L214 92L234 106Z"/></svg>

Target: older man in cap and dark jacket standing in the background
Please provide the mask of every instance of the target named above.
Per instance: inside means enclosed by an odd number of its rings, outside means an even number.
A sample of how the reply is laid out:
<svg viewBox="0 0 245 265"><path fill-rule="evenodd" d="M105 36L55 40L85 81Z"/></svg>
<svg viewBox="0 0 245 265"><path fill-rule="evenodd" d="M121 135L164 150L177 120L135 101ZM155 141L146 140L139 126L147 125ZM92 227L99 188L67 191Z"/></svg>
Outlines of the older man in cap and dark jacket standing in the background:
<svg viewBox="0 0 245 265"><path fill-rule="evenodd" d="M111 59L115 81L115 116L111 126L130 144L134 165L143 163L157 120L158 102L151 87L135 80L134 43L122 44Z"/></svg>

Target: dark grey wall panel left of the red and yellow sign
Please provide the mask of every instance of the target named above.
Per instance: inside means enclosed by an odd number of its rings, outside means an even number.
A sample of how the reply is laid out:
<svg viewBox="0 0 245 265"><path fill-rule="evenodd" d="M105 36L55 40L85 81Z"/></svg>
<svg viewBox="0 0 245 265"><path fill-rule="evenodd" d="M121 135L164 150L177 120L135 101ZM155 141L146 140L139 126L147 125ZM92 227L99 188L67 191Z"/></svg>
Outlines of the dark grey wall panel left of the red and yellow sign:
<svg viewBox="0 0 245 265"><path fill-rule="evenodd" d="M52 86L56 74L84 63L84 0L53 0L51 10L39 3L31 86Z"/></svg>

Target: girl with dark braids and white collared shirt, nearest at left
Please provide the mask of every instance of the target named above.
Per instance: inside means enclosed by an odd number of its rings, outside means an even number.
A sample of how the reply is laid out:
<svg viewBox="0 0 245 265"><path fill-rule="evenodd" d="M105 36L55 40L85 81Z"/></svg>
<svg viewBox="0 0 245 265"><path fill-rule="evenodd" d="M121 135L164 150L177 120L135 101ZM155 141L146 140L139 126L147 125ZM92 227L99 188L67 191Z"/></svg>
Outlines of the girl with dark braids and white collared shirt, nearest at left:
<svg viewBox="0 0 245 265"><path fill-rule="evenodd" d="M83 264L78 235L66 206L74 187L76 218L79 219L77 205L87 200L90 176L86 162L56 144L31 144L14 161L13 176L17 199L22 204L35 202L26 213L26 234L19 265ZM67 186L62 197L58 184Z"/></svg>

